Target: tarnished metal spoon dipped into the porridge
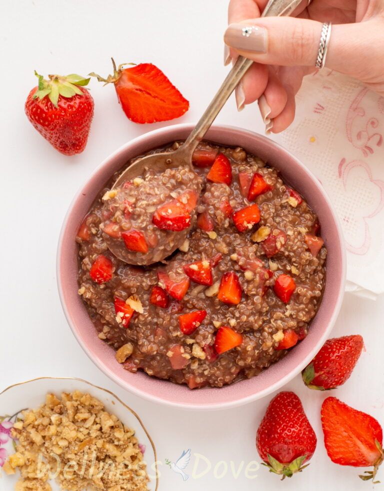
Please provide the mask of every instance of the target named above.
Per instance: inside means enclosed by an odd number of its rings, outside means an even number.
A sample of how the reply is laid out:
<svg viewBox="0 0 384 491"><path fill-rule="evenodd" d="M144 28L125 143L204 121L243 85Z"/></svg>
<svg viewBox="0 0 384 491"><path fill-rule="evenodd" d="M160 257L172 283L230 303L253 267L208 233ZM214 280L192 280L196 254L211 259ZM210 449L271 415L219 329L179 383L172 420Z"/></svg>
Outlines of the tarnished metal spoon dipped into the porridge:
<svg viewBox="0 0 384 491"><path fill-rule="evenodd" d="M301 0L269 0L261 16L289 15L300 2ZM112 189L118 188L127 180L133 180L134 177L142 175L148 168L153 169L156 173L164 172L167 168L179 166L189 166L193 169L192 154L194 150L204 137L206 131L216 118L222 106L227 101L229 95L233 92L234 88L252 63L252 60L244 58L243 56L238 56L236 62L221 84L216 95L205 109L203 115L200 117L196 126L186 138L185 142L172 152L168 151L153 153L137 158L118 176L112 186ZM176 239L174 241L172 250L164 249L162 256L159 254L159 250L153 251L152 256L148 253L145 254L145 257L137 256L137 261L134 263L148 265L155 261L164 259L165 256L168 256L184 242L185 233L180 233L179 235L180 240ZM124 257L121 255L121 245L119 245L116 240L109 239L107 237L105 240L109 250L119 259L126 261L126 258L124 259ZM133 260L130 260L129 262L133 264Z"/></svg>

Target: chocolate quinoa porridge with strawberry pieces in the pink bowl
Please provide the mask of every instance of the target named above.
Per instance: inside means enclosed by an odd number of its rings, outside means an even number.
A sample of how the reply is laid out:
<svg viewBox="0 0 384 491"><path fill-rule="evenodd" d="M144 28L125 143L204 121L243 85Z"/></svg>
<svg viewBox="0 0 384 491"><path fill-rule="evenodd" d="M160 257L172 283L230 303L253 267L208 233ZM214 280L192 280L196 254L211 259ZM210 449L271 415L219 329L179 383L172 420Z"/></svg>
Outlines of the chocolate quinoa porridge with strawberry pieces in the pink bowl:
<svg viewBox="0 0 384 491"><path fill-rule="evenodd" d="M306 336L325 284L326 248L314 212L260 158L203 142L193 164L202 182L197 200L189 169L147 172L136 181L140 193L132 182L110 196L112 176L76 237L79 294L126 370L221 387L257 375ZM123 201L133 198L124 215ZM169 203L166 228L161 209ZM135 257L166 246L169 233L185 233L185 241L162 263L131 266L106 240L132 229L147 246Z"/></svg>

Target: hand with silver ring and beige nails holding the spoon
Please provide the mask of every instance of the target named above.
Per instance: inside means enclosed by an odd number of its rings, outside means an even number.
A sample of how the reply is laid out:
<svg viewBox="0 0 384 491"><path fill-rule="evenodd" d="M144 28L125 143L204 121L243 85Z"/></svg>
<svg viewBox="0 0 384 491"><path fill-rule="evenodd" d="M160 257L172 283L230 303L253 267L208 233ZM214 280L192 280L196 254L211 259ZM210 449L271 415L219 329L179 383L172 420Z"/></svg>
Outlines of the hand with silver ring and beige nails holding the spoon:
<svg viewBox="0 0 384 491"><path fill-rule="evenodd" d="M304 0L292 17L261 17L266 0L230 0L225 63L256 63L236 87L239 110L258 99L266 131L289 126L304 75L315 71L323 22L332 22L326 67L384 95L384 0ZM242 28L255 26L249 36ZM229 49L228 49L229 47Z"/></svg>

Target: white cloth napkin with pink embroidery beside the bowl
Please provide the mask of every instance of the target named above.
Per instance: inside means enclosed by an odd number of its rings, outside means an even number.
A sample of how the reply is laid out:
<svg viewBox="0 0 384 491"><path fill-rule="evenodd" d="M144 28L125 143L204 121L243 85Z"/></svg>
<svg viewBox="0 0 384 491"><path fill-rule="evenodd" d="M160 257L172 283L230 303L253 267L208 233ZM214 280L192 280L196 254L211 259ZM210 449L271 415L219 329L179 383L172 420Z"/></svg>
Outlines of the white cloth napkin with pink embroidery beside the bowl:
<svg viewBox="0 0 384 491"><path fill-rule="evenodd" d="M384 292L384 97L327 69L304 78L280 142L319 178L340 218L346 290Z"/></svg>

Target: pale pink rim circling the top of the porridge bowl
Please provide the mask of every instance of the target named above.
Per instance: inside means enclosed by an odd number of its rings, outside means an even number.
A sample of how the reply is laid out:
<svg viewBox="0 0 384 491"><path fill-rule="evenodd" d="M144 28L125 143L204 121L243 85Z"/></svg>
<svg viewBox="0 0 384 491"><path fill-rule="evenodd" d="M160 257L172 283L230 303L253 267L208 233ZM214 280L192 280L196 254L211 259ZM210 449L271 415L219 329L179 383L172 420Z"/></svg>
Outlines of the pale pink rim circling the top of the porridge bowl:
<svg viewBox="0 0 384 491"><path fill-rule="evenodd" d="M321 191L323 198L326 202L326 205L328 206L328 209L330 210L332 214L332 218L334 220L334 223L336 225L337 229L337 235L339 239L339 246L340 246L340 282L339 282L339 288L337 292L337 299L334 304L333 312L329 318L329 321L327 323L326 328L324 328L320 338L318 339L317 343L315 346L311 348L311 350L307 353L307 355L302 359L300 363L296 365L294 369L283 375L280 379L276 380L274 383L268 385L267 387L258 390L257 392L249 395L245 395L243 397L236 398L234 400L230 401L225 401L225 402L209 402L209 403L190 403L190 402L175 402L173 400L168 400L165 398L158 397L156 395L153 395L151 393L146 392L144 389L139 389L135 386L130 385L128 382L122 380L119 376L117 376L115 373L113 373L104 363L99 361L98 359L95 359L91 356L89 348L86 346L86 343L82 341L82 339L79 337L79 335L76 332L76 328L74 325L74 322L72 322L72 319L69 315L68 307L66 306L64 302L64 295L63 295L63 289L62 289L62 284L61 284L61 275L60 275L60 258L62 255L62 245L63 245L63 238L64 238L64 233L65 229L70 217L70 214L72 212L73 204L77 200L79 193L83 189L83 187L86 185L86 183L91 180L98 172L100 169L102 169L105 165L108 164L110 160L112 160L114 157L119 155L120 153L126 151L127 148L132 146L133 144L141 143L142 141L145 141L147 138L151 137L152 135L162 135L162 133L168 133L169 131L172 132L177 132L185 129L192 130L194 127L193 123L180 123L180 124L170 124L167 126L163 126L161 128L153 129L151 131L148 131L146 133L143 133L139 136L136 136L135 138L132 138L122 145L120 145L116 150L114 150L112 153L110 153L106 158L102 160L102 162L97 165L94 170L87 176L87 178L84 180L84 182L79 186L77 191L75 192L72 200L70 201L70 204L68 206L68 209L65 213L63 223L60 229L60 234L58 237L58 243L57 243L57 253L56 253L56 281L57 281L57 288L58 288L58 293L59 293L59 299L60 303L65 315L65 318L68 322L68 325L76 338L77 342L83 349L83 351L86 353L88 358L104 373L106 374L111 380L113 380L115 383L117 383L120 387L122 387L125 390L128 390L135 395L149 400L150 402L155 402L155 403L160 403L166 406L171 406L175 407L178 409L186 409L186 410L221 410L221 409L229 409L233 407L238 407L243 404L247 404L249 402L252 402L257 399L261 399L265 397L266 395L270 394L271 392L279 389L286 383L288 383L290 380L292 380L300 371L312 360L312 358L315 356L315 354L318 352L318 350L321 348L322 344L326 340L327 336L331 332L334 323L337 319L337 316L339 314L341 304L342 304L342 299L344 296L344 291L345 291L345 281L346 281L346 249L345 249L345 243L344 243L344 237L342 233L342 228L340 224L340 220L338 218L338 215L334 209L334 206L332 202L330 201L330 198L325 191L325 189L320 185L317 177L312 173L310 169L308 169L293 153L291 153L289 150L284 148L282 145L279 143L276 143L274 140L271 140L270 138L267 138L264 135L261 135L259 133L256 133L255 131L251 131L248 129L240 128L238 126L233 126L233 125L225 125L225 124L212 124L211 128L216 129L216 130L235 130L238 131L241 134L246 134L249 137L254 137L256 136L258 139L261 140L266 140L269 144L272 144L276 148L282 151L282 153L287 154L292 160L295 160L295 163L300 167L300 169L306 173L311 180L314 182L315 186ZM172 138L170 138L171 140ZM177 138L176 138L177 139ZM207 140L209 141L209 136L207 137ZM213 140L212 140L213 141ZM172 383L172 382L169 382ZM236 383L241 383L241 381L236 382ZM217 387L208 387L209 389L213 390L219 390Z"/></svg>

